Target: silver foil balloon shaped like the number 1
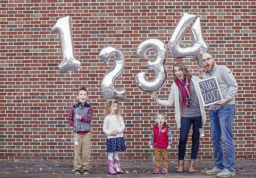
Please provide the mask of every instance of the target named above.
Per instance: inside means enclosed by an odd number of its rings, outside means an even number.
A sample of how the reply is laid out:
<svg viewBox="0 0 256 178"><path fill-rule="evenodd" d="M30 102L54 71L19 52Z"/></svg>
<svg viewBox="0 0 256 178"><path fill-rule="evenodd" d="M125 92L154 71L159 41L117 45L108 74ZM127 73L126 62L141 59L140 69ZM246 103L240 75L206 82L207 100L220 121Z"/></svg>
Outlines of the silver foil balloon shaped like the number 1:
<svg viewBox="0 0 256 178"><path fill-rule="evenodd" d="M70 16L59 18L51 31L58 33L61 39L62 61L59 63L59 71L71 73L73 70L80 70L81 62L75 57L74 52Z"/></svg>

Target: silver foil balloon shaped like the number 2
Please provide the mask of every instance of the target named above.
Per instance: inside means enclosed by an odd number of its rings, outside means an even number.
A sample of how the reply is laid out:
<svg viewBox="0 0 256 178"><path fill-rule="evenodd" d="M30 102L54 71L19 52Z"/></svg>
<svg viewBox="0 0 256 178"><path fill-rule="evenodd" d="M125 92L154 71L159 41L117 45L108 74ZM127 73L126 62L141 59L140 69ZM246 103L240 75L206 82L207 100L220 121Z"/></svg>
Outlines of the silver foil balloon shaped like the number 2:
<svg viewBox="0 0 256 178"><path fill-rule="evenodd" d="M116 89L114 87L115 79L122 73L125 68L125 57L116 46L107 45L99 52L99 57L106 64L110 58L114 59L113 67L104 75L101 80L101 94L104 100L126 101L125 88Z"/></svg>

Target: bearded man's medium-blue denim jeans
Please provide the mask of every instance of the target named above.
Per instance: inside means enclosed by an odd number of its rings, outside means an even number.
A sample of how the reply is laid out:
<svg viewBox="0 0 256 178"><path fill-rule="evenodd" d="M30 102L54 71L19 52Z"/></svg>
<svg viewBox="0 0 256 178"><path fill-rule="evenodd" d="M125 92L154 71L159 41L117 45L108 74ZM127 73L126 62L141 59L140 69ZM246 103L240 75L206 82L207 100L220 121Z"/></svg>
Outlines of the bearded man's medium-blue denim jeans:
<svg viewBox="0 0 256 178"><path fill-rule="evenodd" d="M232 135L234 115L235 105L225 105L217 110L209 111L211 142L214 146L215 166L218 169L226 168L232 172L235 171L235 146ZM226 152L226 163L224 163L223 146Z"/></svg>

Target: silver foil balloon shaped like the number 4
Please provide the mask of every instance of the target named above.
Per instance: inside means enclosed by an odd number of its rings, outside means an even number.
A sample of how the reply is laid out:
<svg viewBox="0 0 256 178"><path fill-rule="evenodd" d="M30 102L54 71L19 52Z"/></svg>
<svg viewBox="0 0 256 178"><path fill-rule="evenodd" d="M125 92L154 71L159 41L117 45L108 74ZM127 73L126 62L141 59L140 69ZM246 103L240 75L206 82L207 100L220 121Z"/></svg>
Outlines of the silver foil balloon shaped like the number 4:
<svg viewBox="0 0 256 178"><path fill-rule="evenodd" d="M180 46L184 34L195 17L196 16L193 14L187 12L183 13L173 33L171 33L169 50L173 58L195 58L198 62L198 66L202 66L201 55L209 51L209 44L203 39L200 17L197 17L190 28L190 33L192 34L191 45L183 48Z"/></svg>

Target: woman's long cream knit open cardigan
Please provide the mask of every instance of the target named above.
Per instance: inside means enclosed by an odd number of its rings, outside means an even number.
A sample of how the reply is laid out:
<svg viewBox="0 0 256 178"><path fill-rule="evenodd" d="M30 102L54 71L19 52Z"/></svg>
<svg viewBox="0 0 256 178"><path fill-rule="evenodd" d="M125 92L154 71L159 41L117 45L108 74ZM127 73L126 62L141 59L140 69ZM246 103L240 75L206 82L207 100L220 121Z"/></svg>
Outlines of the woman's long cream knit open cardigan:
<svg viewBox="0 0 256 178"><path fill-rule="evenodd" d="M195 93L197 94L198 101L199 101L199 106L201 110L201 115L202 115L202 121L203 125L205 125L206 122L206 113L205 113L205 108L203 106L203 102L199 93L199 88L197 86L197 81L201 80L197 76L192 76L191 78L194 87L195 87ZM171 85L170 88L170 94L168 100L159 100L158 99L158 104L159 105L164 105L164 106L175 106L175 121L177 123L177 128L181 128L181 115L182 115L182 110L181 110L181 105L179 104L179 89L178 86L176 85L175 82Z"/></svg>

